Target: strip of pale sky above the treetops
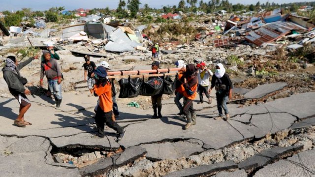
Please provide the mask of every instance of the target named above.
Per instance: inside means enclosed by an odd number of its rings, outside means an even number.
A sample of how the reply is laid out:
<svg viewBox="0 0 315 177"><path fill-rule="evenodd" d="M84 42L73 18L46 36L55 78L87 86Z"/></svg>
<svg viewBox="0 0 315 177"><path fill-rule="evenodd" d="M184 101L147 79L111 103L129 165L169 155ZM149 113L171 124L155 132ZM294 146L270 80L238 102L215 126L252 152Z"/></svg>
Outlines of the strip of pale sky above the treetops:
<svg viewBox="0 0 315 177"><path fill-rule="evenodd" d="M127 1L127 0L125 0ZM161 8L162 6L173 6L178 5L180 0L140 0L141 6L149 4L152 8ZM200 0L198 0L199 2ZM209 0L203 0L208 2ZM246 1L246 2L245 2ZM245 3L245 4L256 4L257 1L264 3L267 0L229 0L232 4ZM290 3L290 2L304 2L314 0L269 0L270 3ZM51 7L64 6L66 10L74 10L78 8L93 9L93 8L106 8L116 9L119 0L0 0L0 11L4 10L20 10L23 7L31 8L35 10L48 10Z"/></svg>

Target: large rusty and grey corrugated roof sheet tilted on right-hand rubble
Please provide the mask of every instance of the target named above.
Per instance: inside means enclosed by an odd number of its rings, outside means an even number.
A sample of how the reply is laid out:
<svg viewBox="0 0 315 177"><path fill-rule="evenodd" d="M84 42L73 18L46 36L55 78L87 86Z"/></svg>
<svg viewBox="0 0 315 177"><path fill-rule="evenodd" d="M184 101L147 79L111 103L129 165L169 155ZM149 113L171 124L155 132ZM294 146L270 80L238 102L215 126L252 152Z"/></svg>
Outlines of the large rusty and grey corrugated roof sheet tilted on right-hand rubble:
<svg viewBox="0 0 315 177"><path fill-rule="evenodd" d="M245 39L257 46L260 46L265 42L272 42L283 37L292 29L300 28L286 22L274 22L255 31L251 31L247 36L245 36Z"/></svg>

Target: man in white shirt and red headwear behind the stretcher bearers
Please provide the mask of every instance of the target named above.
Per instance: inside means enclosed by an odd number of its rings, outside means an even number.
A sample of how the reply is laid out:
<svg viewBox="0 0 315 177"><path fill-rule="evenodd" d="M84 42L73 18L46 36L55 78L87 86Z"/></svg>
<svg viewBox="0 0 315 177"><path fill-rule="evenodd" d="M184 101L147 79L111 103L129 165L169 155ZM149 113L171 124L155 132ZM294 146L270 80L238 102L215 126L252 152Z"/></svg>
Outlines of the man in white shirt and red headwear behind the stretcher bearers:
<svg viewBox="0 0 315 177"><path fill-rule="evenodd" d="M200 63L200 68L198 69L198 94L200 97L200 102L198 104L203 103L203 95L205 93L208 98L208 103L211 104L211 97L208 93L208 87L210 83L210 77L212 77L213 73L210 69L207 68L205 62Z"/></svg>

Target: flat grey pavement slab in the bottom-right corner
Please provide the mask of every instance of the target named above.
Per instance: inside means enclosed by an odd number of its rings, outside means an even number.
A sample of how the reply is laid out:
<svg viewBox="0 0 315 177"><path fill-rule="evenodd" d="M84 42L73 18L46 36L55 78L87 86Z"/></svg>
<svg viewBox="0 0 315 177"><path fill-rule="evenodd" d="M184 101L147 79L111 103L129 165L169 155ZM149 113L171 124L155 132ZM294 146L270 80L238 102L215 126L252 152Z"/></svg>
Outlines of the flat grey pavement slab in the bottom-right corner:
<svg viewBox="0 0 315 177"><path fill-rule="evenodd" d="M315 149L299 152L284 160L269 164L253 177L313 177Z"/></svg>

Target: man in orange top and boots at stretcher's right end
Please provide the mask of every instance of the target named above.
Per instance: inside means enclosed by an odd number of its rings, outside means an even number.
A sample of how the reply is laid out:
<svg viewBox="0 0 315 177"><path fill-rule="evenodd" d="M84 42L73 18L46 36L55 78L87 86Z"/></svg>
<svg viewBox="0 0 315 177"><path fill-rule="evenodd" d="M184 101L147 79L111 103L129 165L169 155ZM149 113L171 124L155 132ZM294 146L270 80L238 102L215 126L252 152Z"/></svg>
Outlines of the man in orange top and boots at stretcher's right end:
<svg viewBox="0 0 315 177"><path fill-rule="evenodd" d="M188 64L186 66L185 78L187 82L184 84L185 91L184 95L184 106L183 112L187 118L187 124L185 129L188 129L191 125L196 124L196 112L193 109L192 102L197 95L198 77L196 73L196 67L193 64Z"/></svg>

